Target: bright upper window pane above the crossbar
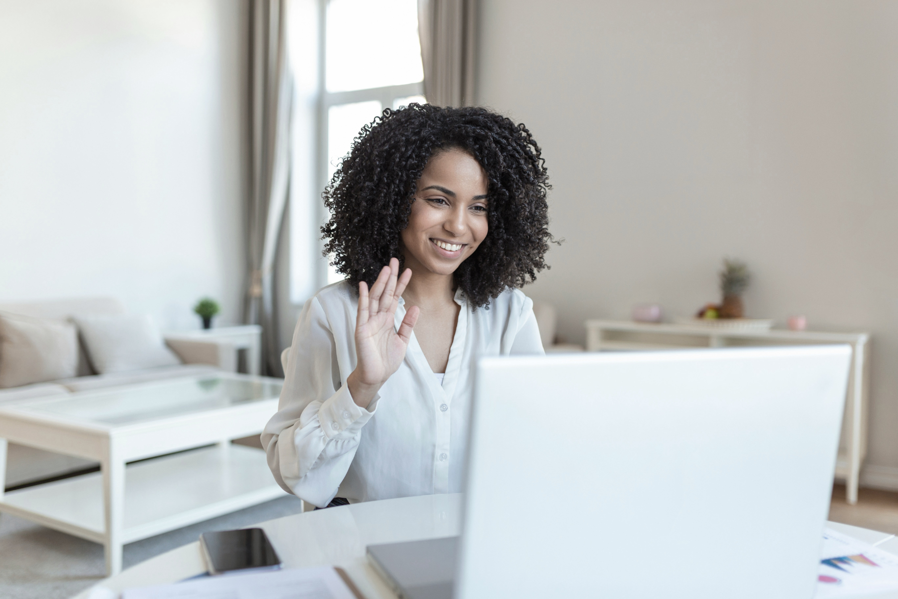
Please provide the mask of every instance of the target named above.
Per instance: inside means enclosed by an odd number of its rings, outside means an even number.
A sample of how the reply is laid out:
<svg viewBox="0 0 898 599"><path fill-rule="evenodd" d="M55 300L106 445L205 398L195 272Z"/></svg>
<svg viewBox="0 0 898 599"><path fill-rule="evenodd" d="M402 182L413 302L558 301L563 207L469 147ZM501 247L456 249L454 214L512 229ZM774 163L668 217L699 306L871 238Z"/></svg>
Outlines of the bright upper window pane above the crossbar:
<svg viewBox="0 0 898 599"><path fill-rule="evenodd" d="M424 80L418 42L418 0L330 0L328 92Z"/></svg>

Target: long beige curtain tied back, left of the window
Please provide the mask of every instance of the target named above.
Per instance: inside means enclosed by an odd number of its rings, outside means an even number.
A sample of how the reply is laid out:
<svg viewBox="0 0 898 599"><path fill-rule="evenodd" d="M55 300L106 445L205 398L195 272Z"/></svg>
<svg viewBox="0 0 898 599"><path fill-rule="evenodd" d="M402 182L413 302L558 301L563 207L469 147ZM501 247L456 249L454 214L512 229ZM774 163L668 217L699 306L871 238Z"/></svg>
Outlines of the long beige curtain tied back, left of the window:
<svg viewBox="0 0 898 599"><path fill-rule="evenodd" d="M275 260L290 184L286 0L250 1L250 181L244 322L262 325L262 374L282 374Z"/></svg>

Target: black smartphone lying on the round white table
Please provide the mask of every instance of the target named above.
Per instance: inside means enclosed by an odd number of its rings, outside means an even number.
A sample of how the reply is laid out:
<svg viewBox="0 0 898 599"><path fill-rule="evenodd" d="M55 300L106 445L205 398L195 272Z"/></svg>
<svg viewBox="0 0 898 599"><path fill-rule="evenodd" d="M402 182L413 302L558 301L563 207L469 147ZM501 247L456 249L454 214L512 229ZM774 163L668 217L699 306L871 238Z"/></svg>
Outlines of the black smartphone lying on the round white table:
<svg viewBox="0 0 898 599"><path fill-rule="evenodd" d="M199 546L209 574L224 574L241 570L276 570L280 558L261 528L239 531L218 531L199 535Z"/></svg>

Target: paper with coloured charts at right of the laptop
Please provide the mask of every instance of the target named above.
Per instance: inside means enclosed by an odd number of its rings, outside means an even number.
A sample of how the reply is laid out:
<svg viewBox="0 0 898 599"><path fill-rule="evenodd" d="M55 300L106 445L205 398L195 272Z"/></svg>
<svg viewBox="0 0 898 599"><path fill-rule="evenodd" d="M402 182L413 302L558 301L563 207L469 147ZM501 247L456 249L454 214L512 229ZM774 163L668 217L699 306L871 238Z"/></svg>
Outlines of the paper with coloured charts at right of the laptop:
<svg viewBox="0 0 898 599"><path fill-rule="evenodd" d="M898 589L898 557L827 528L815 599Z"/></svg>

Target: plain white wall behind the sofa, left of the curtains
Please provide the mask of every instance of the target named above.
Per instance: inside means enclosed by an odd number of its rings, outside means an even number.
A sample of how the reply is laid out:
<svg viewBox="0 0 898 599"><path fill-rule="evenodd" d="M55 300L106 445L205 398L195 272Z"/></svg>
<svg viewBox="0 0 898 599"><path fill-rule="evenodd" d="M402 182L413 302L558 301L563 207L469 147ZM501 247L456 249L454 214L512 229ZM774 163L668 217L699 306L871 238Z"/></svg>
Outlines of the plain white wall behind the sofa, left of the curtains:
<svg viewBox="0 0 898 599"><path fill-rule="evenodd" d="M240 317L242 4L0 0L0 300Z"/></svg>

